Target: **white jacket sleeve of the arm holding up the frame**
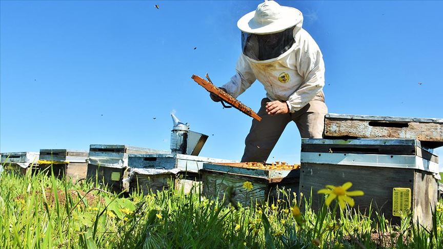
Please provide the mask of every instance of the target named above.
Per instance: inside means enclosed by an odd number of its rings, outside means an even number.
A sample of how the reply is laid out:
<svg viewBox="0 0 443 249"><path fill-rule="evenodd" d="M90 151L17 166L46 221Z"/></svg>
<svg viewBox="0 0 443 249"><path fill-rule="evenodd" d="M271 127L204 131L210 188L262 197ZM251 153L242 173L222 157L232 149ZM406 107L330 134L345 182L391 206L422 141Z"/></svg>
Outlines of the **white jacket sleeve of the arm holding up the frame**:
<svg viewBox="0 0 443 249"><path fill-rule="evenodd" d="M231 80L223 85L222 88L225 88L232 97L237 98L254 83L256 78L243 54L237 60L235 71L236 73L231 77Z"/></svg>

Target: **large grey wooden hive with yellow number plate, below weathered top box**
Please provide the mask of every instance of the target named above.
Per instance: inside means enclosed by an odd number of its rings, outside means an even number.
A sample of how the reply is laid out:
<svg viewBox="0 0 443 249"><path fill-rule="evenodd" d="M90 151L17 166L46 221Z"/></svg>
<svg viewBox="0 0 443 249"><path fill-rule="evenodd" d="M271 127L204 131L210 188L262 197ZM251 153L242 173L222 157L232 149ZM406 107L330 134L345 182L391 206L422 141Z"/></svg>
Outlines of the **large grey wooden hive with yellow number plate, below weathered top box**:
<svg viewBox="0 0 443 249"><path fill-rule="evenodd" d="M414 220L424 226L432 223L438 157L422 149L418 140L302 139L300 161L300 192L309 196L312 188L313 209L324 202L318 190L350 181L350 191L365 192L355 197L361 212L372 204L373 210L394 224L400 223L400 211L412 211Z"/></svg>

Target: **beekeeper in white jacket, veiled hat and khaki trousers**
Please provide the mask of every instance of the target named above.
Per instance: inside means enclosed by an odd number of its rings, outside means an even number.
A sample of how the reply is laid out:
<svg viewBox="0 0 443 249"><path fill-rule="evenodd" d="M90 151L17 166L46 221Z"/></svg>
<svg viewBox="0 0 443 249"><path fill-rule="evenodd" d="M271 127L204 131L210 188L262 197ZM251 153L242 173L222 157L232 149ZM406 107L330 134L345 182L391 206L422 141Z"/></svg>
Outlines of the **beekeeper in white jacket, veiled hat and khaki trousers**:
<svg viewBox="0 0 443 249"><path fill-rule="evenodd" d="M243 53L236 74L221 88L237 98L258 79L266 90L257 113L262 119L252 120L243 162L265 162L291 120L302 138L322 138L328 112L325 64L302 24L299 10L274 1L265 1L237 22ZM213 94L211 98L220 100Z"/></svg>

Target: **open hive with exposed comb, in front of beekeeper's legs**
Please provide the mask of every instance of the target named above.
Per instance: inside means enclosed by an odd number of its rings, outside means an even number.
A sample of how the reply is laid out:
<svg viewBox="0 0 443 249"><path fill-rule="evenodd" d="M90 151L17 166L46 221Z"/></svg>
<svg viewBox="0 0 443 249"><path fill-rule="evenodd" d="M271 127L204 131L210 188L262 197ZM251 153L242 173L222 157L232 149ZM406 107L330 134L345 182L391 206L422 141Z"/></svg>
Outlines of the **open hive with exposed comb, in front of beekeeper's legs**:
<svg viewBox="0 0 443 249"><path fill-rule="evenodd" d="M218 197L222 200L225 194L228 194L227 189L232 187L234 195L229 197L231 201L250 205L257 201L273 202L279 196L283 196L277 188L285 188L291 197L293 193L298 192L300 176L298 165L292 165L283 170L271 169L273 168L271 164L259 163L264 167L255 168L251 168L248 164L250 163L204 163L200 171L203 179L203 194L208 198ZM246 181L252 183L252 190L244 188L243 184Z"/></svg>

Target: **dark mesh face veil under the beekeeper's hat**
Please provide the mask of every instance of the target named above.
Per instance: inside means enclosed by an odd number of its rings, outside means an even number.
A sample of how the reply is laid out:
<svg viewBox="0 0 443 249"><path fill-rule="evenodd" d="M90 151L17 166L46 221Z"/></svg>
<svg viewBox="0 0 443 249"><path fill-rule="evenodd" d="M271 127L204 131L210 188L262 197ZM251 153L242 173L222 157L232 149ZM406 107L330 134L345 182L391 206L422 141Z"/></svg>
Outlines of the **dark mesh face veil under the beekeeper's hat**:
<svg viewBox="0 0 443 249"><path fill-rule="evenodd" d="M294 44L294 27L272 34L241 32L243 54L254 60L277 58Z"/></svg>

